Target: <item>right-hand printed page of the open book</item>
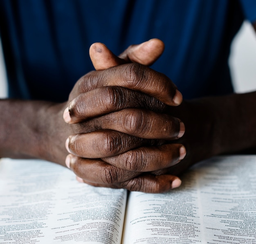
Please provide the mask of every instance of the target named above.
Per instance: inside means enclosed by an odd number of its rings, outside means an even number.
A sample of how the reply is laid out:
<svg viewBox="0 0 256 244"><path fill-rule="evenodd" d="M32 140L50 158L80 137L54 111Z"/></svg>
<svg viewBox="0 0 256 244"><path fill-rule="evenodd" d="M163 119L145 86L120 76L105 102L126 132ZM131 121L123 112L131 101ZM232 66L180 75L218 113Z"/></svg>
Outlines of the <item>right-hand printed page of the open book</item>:
<svg viewBox="0 0 256 244"><path fill-rule="evenodd" d="M202 162L168 193L130 193L123 243L256 243L256 156Z"/></svg>

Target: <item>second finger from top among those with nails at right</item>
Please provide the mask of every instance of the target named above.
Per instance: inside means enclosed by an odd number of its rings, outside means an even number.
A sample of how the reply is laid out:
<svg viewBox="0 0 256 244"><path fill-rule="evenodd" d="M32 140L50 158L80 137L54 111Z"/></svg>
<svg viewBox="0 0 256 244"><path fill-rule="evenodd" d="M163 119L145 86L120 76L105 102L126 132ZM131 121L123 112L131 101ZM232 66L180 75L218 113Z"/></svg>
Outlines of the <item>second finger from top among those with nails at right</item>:
<svg viewBox="0 0 256 244"><path fill-rule="evenodd" d="M123 109L91 121L97 124L99 129L116 130L148 139L175 140L185 132L184 123L180 119L136 108Z"/></svg>

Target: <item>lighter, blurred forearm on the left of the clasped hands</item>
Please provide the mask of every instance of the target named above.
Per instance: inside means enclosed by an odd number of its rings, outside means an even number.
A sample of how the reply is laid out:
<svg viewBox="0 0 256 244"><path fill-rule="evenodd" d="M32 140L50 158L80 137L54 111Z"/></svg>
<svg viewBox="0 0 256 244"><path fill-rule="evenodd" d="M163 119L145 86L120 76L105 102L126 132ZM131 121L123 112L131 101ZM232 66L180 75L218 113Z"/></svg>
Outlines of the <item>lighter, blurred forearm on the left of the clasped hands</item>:
<svg viewBox="0 0 256 244"><path fill-rule="evenodd" d="M63 145L54 145L56 130L52 121L57 127L61 120L49 116L59 117L56 113L49 113L56 106L45 101L0 100L0 157L42 158L64 163L65 155L55 154L64 152L65 137L68 135L62 133ZM51 137L54 139L51 140ZM53 146L60 147L55 154L52 152Z"/></svg>

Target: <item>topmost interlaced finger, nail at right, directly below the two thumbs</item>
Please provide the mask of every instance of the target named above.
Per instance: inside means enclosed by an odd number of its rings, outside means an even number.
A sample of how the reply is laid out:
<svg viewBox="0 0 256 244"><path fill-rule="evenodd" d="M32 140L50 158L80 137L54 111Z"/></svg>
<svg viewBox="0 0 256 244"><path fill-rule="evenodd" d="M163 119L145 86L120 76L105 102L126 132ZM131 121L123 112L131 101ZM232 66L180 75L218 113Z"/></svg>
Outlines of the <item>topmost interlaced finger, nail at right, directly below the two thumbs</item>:
<svg viewBox="0 0 256 244"><path fill-rule="evenodd" d="M170 106L182 102L181 93L168 77L141 64L123 64L90 72L78 81L79 93L102 86L121 86L143 92Z"/></svg>

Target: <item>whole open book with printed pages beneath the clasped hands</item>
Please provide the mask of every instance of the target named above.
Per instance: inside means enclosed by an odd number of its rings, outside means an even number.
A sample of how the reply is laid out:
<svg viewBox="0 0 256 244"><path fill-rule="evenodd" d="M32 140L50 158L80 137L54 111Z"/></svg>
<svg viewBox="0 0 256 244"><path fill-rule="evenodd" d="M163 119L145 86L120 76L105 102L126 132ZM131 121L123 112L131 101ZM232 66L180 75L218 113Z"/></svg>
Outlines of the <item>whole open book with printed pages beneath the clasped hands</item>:
<svg viewBox="0 0 256 244"><path fill-rule="evenodd" d="M206 160L164 194L97 188L40 160L0 161L0 244L256 243L256 156Z"/></svg>

